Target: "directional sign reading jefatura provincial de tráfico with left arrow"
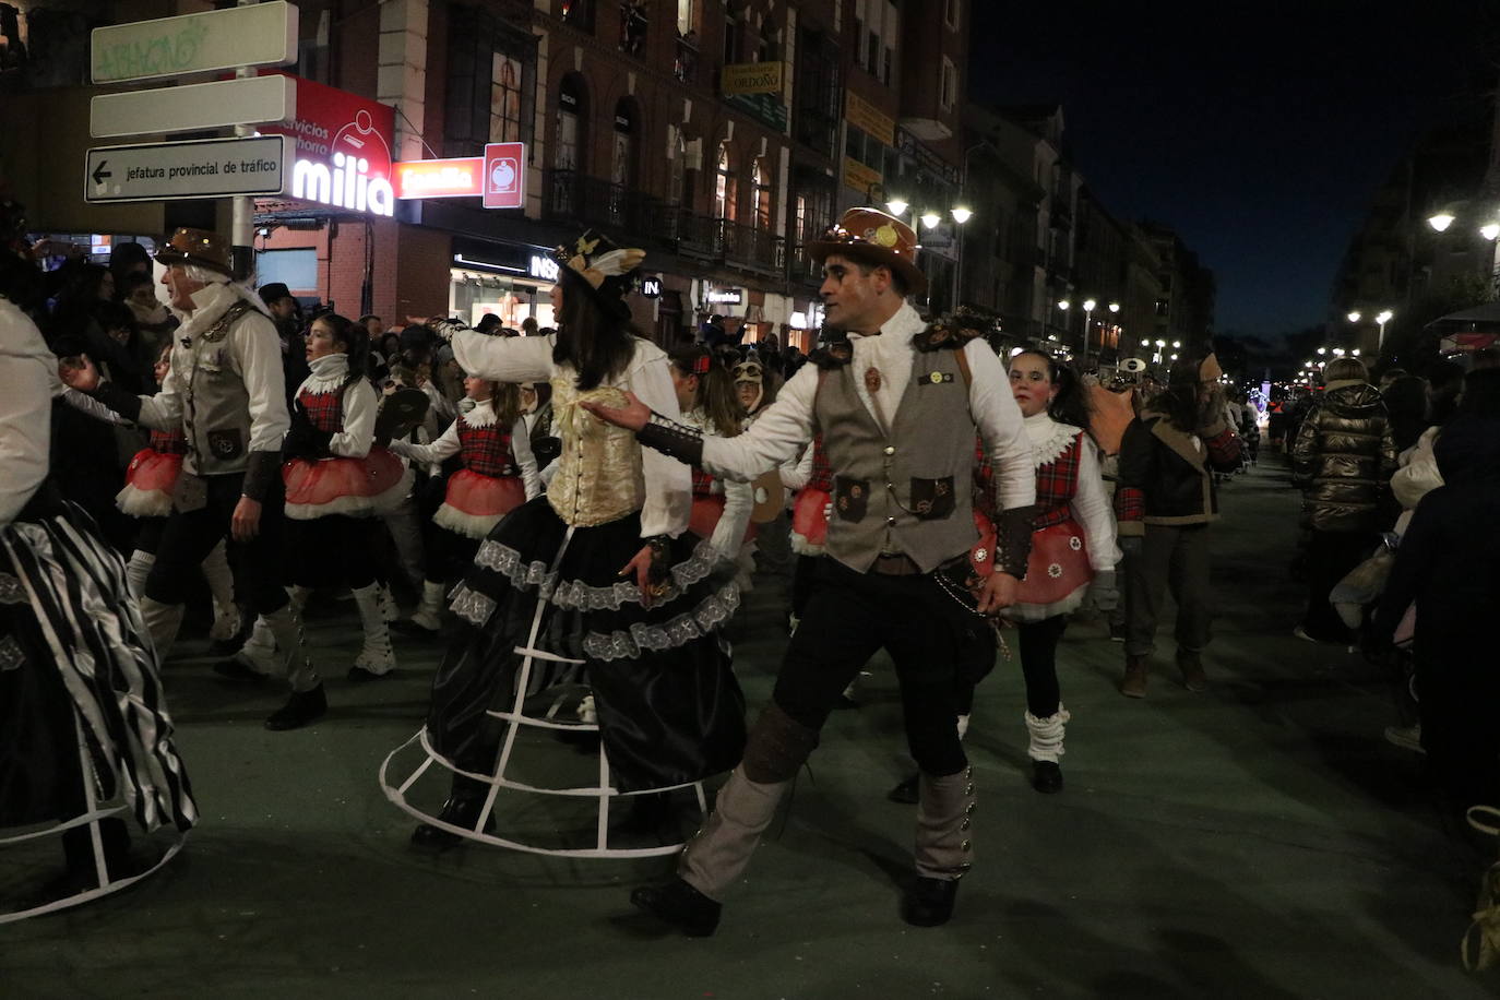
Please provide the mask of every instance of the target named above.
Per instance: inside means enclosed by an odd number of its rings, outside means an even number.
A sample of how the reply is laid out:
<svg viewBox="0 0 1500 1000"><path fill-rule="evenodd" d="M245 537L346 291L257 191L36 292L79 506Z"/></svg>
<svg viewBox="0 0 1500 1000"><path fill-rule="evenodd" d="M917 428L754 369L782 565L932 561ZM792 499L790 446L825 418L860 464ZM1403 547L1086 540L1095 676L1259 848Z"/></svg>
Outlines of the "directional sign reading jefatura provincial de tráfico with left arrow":
<svg viewBox="0 0 1500 1000"><path fill-rule="evenodd" d="M105 145L88 150L84 201L279 195L291 174L291 151L285 135Z"/></svg>

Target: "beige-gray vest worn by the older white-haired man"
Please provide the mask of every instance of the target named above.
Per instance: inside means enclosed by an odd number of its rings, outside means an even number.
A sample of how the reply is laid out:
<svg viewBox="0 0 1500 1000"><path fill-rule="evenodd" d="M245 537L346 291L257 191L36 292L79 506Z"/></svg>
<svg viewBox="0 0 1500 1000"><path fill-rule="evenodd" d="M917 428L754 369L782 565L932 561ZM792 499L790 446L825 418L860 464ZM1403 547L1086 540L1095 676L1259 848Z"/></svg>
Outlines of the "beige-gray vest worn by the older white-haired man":
<svg viewBox="0 0 1500 1000"><path fill-rule="evenodd" d="M172 352L172 367L186 376L183 433L188 456L183 468L196 475L243 472L249 465L250 394L230 348L230 334L242 324L255 324L254 336L276 340L272 321L237 301L189 346L178 345Z"/></svg>

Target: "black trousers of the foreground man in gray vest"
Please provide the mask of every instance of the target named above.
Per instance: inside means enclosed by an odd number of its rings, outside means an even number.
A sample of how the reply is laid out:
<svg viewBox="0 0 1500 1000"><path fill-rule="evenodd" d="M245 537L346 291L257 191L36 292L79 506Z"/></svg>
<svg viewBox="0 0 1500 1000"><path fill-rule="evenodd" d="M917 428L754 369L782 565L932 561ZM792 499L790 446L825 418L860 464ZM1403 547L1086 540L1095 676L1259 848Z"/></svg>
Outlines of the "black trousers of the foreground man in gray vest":
<svg viewBox="0 0 1500 1000"><path fill-rule="evenodd" d="M969 762L958 742L954 678L972 618L930 573L856 573L825 559L771 697L789 717L820 730L860 667L885 649L896 663L916 766L938 777L958 774Z"/></svg>

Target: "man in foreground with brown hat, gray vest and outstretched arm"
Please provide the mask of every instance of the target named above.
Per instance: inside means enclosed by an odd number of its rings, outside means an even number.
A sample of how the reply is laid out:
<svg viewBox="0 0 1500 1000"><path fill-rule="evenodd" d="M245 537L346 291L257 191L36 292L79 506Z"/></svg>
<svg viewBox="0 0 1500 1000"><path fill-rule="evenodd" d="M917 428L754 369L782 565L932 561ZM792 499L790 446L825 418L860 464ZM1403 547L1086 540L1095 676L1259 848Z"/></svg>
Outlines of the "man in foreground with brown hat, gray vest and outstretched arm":
<svg viewBox="0 0 1500 1000"><path fill-rule="evenodd" d="M848 339L814 354L748 430L702 438L638 400L590 406L633 427L642 444L724 478L753 480L816 433L832 469L832 558L786 649L771 705L714 814L684 849L678 879L632 895L694 936L717 927L723 894L818 745L840 693L882 648L896 663L906 738L921 769L916 879L902 916L918 927L948 921L974 837L954 669L966 639L988 628L981 616L1014 603L1030 547L1035 481L1020 409L982 339L928 327L906 303L927 286L915 264L916 234L876 208L850 208L812 253L824 267L828 325ZM1005 511L996 571L976 609L964 589L976 541L975 433L994 463L994 507Z"/></svg>

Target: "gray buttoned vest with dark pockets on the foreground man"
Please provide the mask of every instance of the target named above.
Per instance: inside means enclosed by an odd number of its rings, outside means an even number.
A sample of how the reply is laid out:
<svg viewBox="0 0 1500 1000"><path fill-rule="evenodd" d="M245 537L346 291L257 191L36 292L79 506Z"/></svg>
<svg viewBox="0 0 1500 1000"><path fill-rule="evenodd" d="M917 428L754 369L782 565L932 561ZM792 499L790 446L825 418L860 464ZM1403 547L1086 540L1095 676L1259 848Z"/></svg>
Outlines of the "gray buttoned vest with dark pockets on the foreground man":
<svg viewBox="0 0 1500 1000"><path fill-rule="evenodd" d="M932 573L978 541L968 373L951 349L914 351L890 435L854 379L854 364L825 373L813 406L832 471L828 555L866 573L900 553Z"/></svg>

